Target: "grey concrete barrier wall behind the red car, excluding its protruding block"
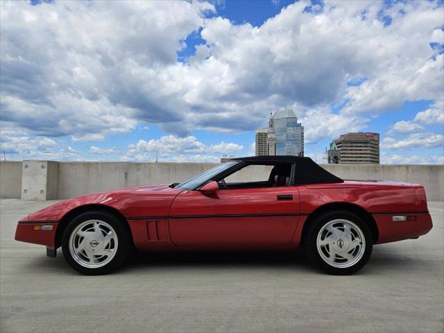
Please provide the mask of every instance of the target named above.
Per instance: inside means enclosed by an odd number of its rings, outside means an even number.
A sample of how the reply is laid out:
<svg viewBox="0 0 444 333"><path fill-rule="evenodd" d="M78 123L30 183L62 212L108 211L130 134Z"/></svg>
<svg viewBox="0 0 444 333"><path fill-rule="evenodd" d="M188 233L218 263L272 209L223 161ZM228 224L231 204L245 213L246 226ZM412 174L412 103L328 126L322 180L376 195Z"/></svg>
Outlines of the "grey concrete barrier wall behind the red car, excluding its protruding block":
<svg viewBox="0 0 444 333"><path fill-rule="evenodd" d="M181 182L214 167L214 163L134 163L134 162L58 162L56 197L71 198L81 194L122 187ZM444 200L443 165L348 165L322 164L345 179L395 180L422 184L428 200ZM0 162L1 198L20 198L22 162ZM269 172L258 169L259 173ZM248 180L250 175L239 174ZM239 179L240 180L240 179ZM235 180L232 180L235 181ZM42 197L42 199L44 199Z"/></svg>

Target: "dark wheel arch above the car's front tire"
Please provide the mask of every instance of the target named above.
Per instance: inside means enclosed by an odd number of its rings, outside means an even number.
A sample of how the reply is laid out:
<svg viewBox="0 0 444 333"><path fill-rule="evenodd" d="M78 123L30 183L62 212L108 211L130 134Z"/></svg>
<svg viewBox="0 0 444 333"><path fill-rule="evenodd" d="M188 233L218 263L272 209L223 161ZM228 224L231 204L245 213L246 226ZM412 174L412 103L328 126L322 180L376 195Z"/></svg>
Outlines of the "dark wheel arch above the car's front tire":
<svg viewBox="0 0 444 333"><path fill-rule="evenodd" d="M54 244L55 244L56 248L60 248L60 246L62 245L62 235L63 235L63 232L65 231L65 229L67 228L67 225L69 224L69 222L71 222L74 218L76 218L76 216L79 216L80 214L83 214L85 212L91 212L91 211L107 212L109 214L113 214L114 216L116 216L123 223L123 225L125 225L126 228L128 228L128 231L130 232L130 235L131 235L131 241L133 241L133 232L131 232L130 225L128 224L128 221L126 221L125 216L123 216L123 214L121 214L121 212L119 212L119 210L115 209L114 207L107 206L107 205L88 204L88 205L81 205L81 206L75 207L74 209L67 212L62 217L62 219L60 219L60 221L57 225L56 237L54 239Z"/></svg>

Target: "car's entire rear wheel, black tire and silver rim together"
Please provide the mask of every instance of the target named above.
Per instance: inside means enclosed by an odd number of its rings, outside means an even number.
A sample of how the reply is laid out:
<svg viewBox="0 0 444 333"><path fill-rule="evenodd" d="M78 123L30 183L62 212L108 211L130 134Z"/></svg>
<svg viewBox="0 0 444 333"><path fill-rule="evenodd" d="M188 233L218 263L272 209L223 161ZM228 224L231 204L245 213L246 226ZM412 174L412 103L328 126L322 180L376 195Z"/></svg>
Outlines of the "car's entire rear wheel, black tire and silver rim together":
<svg viewBox="0 0 444 333"><path fill-rule="evenodd" d="M307 255L324 271L346 275L359 271L372 253L368 226L350 212L327 212L307 230Z"/></svg>

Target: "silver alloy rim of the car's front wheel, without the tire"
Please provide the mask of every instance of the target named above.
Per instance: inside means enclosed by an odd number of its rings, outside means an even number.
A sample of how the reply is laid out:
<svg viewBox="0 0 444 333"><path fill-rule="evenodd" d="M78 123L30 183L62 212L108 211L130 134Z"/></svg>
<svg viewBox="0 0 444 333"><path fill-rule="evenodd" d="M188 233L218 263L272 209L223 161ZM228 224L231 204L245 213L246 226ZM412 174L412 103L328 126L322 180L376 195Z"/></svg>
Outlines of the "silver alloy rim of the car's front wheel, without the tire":
<svg viewBox="0 0 444 333"><path fill-rule="evenodd" d="M105 266L117 253L119 241L111 225L101 220L80 223L69 237L69 253L81 266Z"/></svg>

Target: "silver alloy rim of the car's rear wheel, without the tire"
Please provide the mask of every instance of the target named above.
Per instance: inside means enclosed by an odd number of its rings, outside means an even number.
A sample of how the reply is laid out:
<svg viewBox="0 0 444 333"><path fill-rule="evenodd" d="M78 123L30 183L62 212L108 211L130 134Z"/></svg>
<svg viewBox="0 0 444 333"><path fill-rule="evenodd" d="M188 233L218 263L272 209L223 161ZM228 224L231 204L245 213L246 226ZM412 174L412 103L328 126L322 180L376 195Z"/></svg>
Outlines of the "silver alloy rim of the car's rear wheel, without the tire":
<svg viewBox="0 0 444 333"><path fill-rule="evenodd" d="M366 239L355 223L336 219L319 230L316 246L324 262L336 268L347 268L364 255Z"/></svg>

